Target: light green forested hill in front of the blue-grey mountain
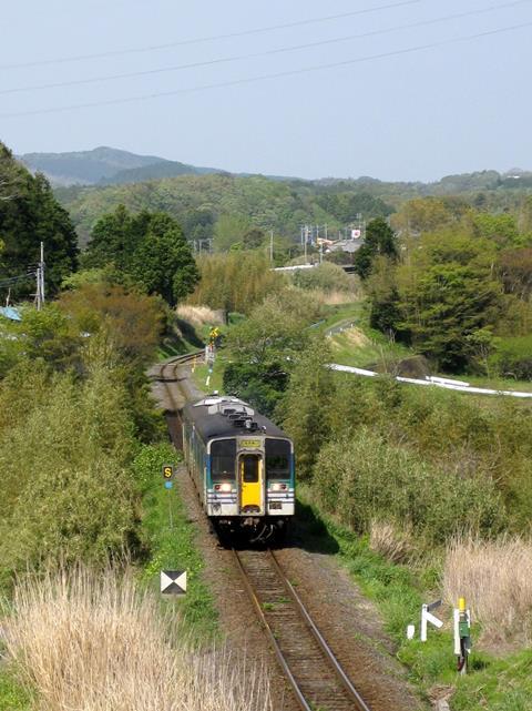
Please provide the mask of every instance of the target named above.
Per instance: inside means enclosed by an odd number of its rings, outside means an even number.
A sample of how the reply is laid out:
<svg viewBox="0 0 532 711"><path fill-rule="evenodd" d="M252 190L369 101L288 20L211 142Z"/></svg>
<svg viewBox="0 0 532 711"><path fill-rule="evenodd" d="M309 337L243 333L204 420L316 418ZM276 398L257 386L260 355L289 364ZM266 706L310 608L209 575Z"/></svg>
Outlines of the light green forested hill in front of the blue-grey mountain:
<svg viewBox="0 0 532 711"><path fill-rule="evenodd" d="M263 176L183 175L127 185L59 189L55 194L69 210L82 244L95 221L120 204L133 212L167 212L190 240L213 237L215 231L237 236L252 227L295 237L301 223L327 223L335 230L358 213L370 219L393 212L391 205L367 192Z"/></svg>

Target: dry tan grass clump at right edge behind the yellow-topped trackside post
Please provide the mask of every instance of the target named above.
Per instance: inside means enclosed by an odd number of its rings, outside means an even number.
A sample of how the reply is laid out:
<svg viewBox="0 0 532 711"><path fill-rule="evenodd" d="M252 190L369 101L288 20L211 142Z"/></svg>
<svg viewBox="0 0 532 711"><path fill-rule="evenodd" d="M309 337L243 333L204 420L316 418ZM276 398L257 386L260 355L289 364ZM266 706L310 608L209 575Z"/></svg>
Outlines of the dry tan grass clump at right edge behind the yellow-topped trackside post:
<svg viewBox="0 0 532 711"><path fill-rule="evenodd" d="M456 540L447 551L443 592L464 597L487 641L525 641L532 633L532 541Z"/></svg>

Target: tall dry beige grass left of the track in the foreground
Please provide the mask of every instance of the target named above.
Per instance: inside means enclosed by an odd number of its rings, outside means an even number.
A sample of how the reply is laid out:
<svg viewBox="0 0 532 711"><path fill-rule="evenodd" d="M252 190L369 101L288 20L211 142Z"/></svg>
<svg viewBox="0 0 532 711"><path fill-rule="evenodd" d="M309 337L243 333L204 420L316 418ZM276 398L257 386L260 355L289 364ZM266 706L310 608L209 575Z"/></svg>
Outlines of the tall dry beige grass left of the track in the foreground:
<svg viewBox="0 0 532 711"><path fill-rule="evenodd" d="M2 624L42 711L272 711L259 670L178 629L131 576L81 569L19 585Z"/></svg>

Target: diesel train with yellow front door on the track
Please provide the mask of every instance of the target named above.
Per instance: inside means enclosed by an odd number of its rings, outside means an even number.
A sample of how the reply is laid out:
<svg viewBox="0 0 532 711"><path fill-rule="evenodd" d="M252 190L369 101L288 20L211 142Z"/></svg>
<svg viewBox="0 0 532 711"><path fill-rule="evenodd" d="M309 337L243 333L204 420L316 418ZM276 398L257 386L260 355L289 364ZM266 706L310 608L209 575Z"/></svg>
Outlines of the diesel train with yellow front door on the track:
<svg viewBox="0 0 532 711"><path fill-rule="evenodd" d="M183 449L202 507L223 530L284 535L295 508L294 446L235 397L185 405Z"/></svg>

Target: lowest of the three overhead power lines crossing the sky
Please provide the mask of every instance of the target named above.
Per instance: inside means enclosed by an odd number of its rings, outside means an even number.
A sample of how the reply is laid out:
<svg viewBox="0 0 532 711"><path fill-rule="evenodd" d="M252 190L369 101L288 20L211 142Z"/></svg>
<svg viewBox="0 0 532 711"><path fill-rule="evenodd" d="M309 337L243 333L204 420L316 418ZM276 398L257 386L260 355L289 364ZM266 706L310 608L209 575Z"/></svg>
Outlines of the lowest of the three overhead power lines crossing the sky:
<svg viewBox="0 0 532 711"><path fill-rule="evenodd" d="M308 74L316 71L323 71L327 69L339 69L341 67L349 67L352 64L361 64L366 62L371 62L379 59L387 59L389 57L399 57L403 54L412 54L415 52L421 52L430 49L437 49L440 47L447 47L449 44L459 44L461 42L469 42L471 40L481 39L484 37L492 37L494 34L502 34L503 32L514 32L516 30L522 30L525 28L532 27L531 22L521 22L519 24L512 24L509 27L497 28L494 30L487 30L485 32L477 32L475 34L467 34L464 37L450 38L447 40L440 40L438 42L428 42L426 44L418 44L416 47L407 47L400 50L392 50L390 52L380 52L378 54L368 54L366 57L357 57L355 59L347 59L339 62L330 62L324 64L315 64L313 67L304 67L301 69L293 69L282 72L273 72L268 74L260 74L257 77L247 77L243 79L234 79L228 81L215 82L212 84L202 84L198 87L191 87L184 89L174 89L172 91L162 91L151 94L139 94L136 97L126 97L123 99L108 99L103 101L92 101L86 103L70 104L65 106L55 106L50 109L35 109L33 111L17 111L10 113L0 113L0 119L12 119L19 116L31 116L31 115L42 115L47 113L61 113L63 111L73 111L76 109L93 109L98 106L111 106L122 103L132 103L135 101L145 101L149 99L160 99L164 97L175 97L178 94L191 94L201 91L209 91L213 89L223 89L226 87L238 87L242 84L253 84L255 82L265 81L268 79L280 79L283 77L297 77L300 74Z"/></svg>

